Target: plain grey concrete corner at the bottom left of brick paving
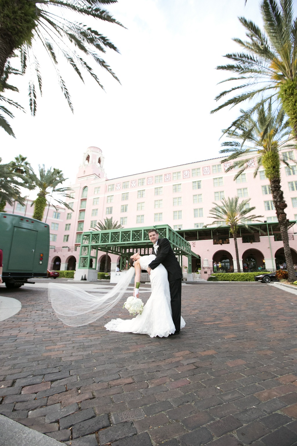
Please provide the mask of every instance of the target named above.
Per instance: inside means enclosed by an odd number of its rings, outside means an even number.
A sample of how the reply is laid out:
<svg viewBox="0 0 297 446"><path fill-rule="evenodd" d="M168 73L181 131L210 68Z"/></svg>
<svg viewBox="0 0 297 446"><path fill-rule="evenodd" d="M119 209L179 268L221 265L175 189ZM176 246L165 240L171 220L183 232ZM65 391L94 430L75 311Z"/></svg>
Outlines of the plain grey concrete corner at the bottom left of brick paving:
<svg viewBox="0 0 297 446"><path fill-rule="evenodd" d="M1 446L61 446L54 438L30 429L17 421L0 415L0 445Z"/></svg>

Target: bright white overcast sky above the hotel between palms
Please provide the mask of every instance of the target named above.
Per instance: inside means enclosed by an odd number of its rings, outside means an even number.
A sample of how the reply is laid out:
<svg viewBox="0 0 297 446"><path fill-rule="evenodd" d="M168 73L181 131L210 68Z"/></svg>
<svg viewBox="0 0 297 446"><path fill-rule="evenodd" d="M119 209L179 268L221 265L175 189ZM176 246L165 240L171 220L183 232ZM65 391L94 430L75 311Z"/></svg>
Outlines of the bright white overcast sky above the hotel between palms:
<svg viewBox="0 0 297 446"><path fill-rule="evenodd" d="M231 40L244 38L237 17L261 24L259 1L244 7L244 0L118 0L108 9L127 28L96 22L121 52L104 57L122 85L96 67L104 92L89 76L84 85L62 67L73 115L55 72L39 58L44 93L37 116L16 112L16 139L0 129L3 162L21 153L34 168L57 167L73 182L90 145L102 149L108 178L218 156L221 129L238 111L210 115L228 85L216 85L228 73L215 67L240 49ZM21 90L13 99L28 108L28 84L20 76L13 83Z"/></svg>

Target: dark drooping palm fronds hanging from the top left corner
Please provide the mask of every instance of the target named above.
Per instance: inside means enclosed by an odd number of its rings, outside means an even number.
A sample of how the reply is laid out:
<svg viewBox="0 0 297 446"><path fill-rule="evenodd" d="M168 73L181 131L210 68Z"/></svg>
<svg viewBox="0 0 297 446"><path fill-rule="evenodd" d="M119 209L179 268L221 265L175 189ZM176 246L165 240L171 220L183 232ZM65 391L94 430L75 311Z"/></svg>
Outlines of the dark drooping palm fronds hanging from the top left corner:
<svg viewBox="0 0 297 446"><path fill-rule="evenodd" d="M61 90L73 111L70 95L57 68L57 54L62 54L73 70L84 82L81 70L86 70L103 88L92 67L85 61L90 57L99 66L118 78L110 66L98 53L106 49L118 52L116 46L96 29L82 23L69 20L64 12L76 13L77 17L94 17L105 22L115 23L110 13L102 8L104 4L113 4L117 0L14 0L0 2L0 78L7 64L14 55L20 57L22 74L30 72L29 103L31 113L36 113L36 87L42 92L42 79L39 63L34 53L34 46L39 43L49 56L56 70ZM35 78L35 80L33 80ZM1 91L1 90L0 90Z"/></svg>

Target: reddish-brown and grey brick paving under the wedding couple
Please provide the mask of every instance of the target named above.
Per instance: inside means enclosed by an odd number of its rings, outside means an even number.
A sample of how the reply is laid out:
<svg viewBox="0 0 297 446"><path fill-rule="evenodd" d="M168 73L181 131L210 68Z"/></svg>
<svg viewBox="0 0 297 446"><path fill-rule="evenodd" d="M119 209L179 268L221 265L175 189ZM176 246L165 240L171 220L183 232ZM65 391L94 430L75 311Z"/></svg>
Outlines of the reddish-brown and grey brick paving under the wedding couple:
<svg viewBox="0 0 297 446"><path fill-rule="evenodd" d="M297 297L264 284L182 290L185 329L151 339L104 329L128 317L122 302L72 328L38 284L0 287L22 303L0 323L0 413L72 446L297 445Z"/></svg>

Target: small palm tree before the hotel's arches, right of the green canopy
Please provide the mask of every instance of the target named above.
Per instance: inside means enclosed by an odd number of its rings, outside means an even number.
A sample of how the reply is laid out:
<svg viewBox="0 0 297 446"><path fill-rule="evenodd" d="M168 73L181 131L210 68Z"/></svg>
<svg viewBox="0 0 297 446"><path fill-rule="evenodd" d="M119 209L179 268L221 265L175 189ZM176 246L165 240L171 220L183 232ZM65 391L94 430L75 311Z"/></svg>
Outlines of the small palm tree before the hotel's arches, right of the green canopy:
<svg viewBox="0 0 297 446"><path fill-rule="evenodd" d="M239 203L239 197L234 198L223 198L221 200L221 205L216 203L212 203L215 207L212 207L209 211L212 214L213 222L209 223L205 226L229 226L230 232L233 235L235 253L236 253L236 264L237 271L240 271L240 263L238 256L238 247L237 247L237 235L239 230L239 225L245 226L247 229L252 231L252 228L248 225L248 221L260 221L258 218L263 217L263 215L250 215L249 212L252 212L256 209L256 206L249 207L248 202L250 198L246 198Z"/></svg>

